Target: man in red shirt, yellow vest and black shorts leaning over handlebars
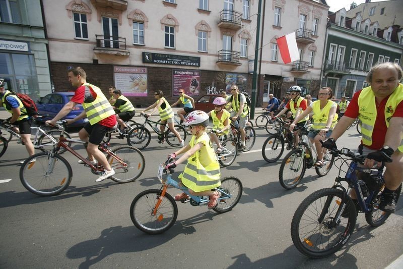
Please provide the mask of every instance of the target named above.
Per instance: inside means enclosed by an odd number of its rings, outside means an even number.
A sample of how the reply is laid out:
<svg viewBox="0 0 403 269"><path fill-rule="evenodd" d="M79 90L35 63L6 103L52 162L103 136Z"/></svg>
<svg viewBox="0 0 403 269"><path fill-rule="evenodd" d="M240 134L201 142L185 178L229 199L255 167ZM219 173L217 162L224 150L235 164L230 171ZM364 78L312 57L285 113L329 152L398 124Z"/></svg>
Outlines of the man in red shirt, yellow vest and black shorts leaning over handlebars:
<svg viewBox="0 0 403 269"><path fill-rule="evenodd" d="M93 164L98 161L105 169L96 180L96 182L101 182L115 174L106 160L106 156L98 149L106 132L116 125L115 112L102 91L97 86L86 82L87 74L81 67L70 69L68 76L69 82L77 87L76 93L52 120L46 121L46 124L55 125L56 121L69 114L74 106L83 105L84 111L76 118L68 120L67 124L88 117L89 122L80 130L79 137L82 141L88 142L88 146L86 146L88 160ZM79 160L79 164L84 164L84 162Z"/></svg>

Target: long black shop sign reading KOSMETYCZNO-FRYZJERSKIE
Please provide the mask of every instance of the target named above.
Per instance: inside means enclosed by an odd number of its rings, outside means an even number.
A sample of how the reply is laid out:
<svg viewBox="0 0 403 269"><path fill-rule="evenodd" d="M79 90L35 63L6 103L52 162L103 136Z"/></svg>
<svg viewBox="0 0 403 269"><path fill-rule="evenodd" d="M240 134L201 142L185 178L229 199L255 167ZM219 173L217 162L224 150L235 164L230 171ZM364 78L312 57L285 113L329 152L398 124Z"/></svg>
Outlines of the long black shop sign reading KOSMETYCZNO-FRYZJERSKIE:
<svg viewBox="0 0 403 269"><path fill-rule="evenodd" d="M199 67L200 57L143 52L143 63Z"/></svg>

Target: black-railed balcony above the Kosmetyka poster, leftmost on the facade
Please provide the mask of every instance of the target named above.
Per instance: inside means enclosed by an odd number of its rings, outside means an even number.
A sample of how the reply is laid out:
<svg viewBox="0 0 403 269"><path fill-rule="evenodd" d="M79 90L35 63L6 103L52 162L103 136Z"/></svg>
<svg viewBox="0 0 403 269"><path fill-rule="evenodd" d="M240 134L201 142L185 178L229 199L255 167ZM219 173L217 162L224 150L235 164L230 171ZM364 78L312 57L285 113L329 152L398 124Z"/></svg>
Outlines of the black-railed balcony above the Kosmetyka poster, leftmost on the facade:
<svg viewBox="0 0 403 269"><path fill-rule="evenodd" d="M108 35L95 35L97 45L94 48L95 53L129 56L130 52L126 49L126 38Z"/></svg>

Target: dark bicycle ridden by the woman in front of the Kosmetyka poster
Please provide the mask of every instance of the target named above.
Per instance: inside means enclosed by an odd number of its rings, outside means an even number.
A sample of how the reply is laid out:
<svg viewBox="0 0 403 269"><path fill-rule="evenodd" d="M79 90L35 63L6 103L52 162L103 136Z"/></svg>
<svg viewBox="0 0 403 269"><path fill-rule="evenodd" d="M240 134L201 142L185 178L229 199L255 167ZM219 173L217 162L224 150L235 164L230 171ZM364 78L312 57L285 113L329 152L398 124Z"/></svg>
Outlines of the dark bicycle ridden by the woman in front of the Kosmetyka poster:
<svg viewBox="0 0 403 269"><path fill-rule="evenodd" d="M150 126L157 134L158 134L158 140L160 143L164 141L164 139L167 141L167 143L171 146L179 146L180 142L178 138L171 132L169 128L166 128L164 132L161 133L161 131L158 129L158 127L154 126L153 124L156 125L165 125L162 123L158 123L155 121L150 120L150 115L143 114L141 113L140 116L144 117L146 121L141 124L140 126L137 126L129 131L127 134L127 144L130 146L135 146L139 149L144 149L150 144L151 141L151 133L150 131L146 128L146 125ZM181 125L175 125L176 131L180 134L180 137L182 138L183 141L186 140L186 130L183 128Z"/></svg>

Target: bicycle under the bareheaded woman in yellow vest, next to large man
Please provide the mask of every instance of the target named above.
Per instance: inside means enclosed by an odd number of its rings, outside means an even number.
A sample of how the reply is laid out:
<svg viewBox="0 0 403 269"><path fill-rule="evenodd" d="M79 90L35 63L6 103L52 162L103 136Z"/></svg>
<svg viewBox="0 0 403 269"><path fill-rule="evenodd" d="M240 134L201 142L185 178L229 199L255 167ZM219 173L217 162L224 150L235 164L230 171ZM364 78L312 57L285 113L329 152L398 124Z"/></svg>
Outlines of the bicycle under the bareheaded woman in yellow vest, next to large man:
<svg viewBox="0 0 403 269"><path fill-rule="evenodd" d="M314 167L316 174L319 177L323 177L329 173L333 166L334 156L329 152L323 154L323 165L314 166L317 161L317 152L315 145L312 144L308 137L311 126L312 124L306 127L295 127L295 129L300 130L302 139L300 139L298 147L288 152L281 163L279 181L281 186L287 190L294 189L299 184L304 177L306 169Z"/></svg>

